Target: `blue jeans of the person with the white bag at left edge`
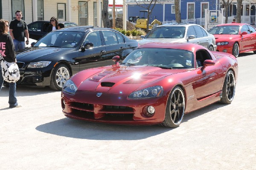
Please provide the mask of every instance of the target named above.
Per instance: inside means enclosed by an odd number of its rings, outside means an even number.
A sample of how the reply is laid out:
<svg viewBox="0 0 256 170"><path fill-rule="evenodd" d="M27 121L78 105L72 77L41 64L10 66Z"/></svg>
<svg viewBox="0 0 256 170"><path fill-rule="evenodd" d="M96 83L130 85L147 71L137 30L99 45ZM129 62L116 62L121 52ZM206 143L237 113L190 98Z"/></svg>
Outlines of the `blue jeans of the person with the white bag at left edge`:
<svg viewBox="0 0 256 170"><path fill-rule="evenodd" d="M0 91L3 86L2 67L0 65ZM3 102L3 101L1 101ZM16 107L18 105L16 98L16 83L9 83L9 107Z"/></svg>

